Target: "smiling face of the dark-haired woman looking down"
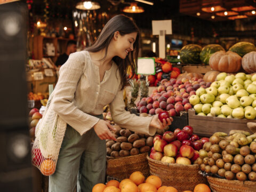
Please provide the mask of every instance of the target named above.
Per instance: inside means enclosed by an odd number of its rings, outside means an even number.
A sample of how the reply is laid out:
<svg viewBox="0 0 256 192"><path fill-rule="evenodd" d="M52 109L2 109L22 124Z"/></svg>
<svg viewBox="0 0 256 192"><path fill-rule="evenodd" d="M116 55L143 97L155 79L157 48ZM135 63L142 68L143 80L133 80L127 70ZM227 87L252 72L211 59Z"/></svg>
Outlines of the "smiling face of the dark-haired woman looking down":
<svg viewBox="0 0 256 192"><path fill-rule="evenodd" d="M133 51L133 44L136 40L137 32L126 35L118 34L116 38L116 55L125 59L130 51Z"/></svg>

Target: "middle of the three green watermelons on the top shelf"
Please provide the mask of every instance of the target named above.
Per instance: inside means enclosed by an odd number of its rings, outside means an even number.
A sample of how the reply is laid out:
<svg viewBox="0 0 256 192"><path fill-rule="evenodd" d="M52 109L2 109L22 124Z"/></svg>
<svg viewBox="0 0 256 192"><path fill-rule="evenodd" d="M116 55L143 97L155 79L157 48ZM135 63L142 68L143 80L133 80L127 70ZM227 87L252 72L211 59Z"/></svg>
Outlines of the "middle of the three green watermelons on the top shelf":
<svg viewBox="0 0 256 192"><path fill-rule="evenodd" d="M217 51L225 51L225 49L218 44L210 44L203 47L200 53L200 59L206 65L209 65L209 59L211 55Z"/></svg>

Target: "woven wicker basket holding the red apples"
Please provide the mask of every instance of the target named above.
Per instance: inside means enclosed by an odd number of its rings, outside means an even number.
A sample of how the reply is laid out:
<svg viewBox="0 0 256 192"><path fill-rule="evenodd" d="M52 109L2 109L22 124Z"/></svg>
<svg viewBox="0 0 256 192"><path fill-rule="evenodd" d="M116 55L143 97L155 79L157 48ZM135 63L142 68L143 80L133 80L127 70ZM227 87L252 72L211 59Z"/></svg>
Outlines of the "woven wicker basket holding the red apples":
<svg viewBox="0 0 256 192"><path fill-rule="evenodd" d="M151 175L157 175L162 180L163 186L175 187L178 191L191 190L199 183L206 183L207 180L199 174L198 165L181 165L177 163L163 163L149 158L148 164Z"/></svg>

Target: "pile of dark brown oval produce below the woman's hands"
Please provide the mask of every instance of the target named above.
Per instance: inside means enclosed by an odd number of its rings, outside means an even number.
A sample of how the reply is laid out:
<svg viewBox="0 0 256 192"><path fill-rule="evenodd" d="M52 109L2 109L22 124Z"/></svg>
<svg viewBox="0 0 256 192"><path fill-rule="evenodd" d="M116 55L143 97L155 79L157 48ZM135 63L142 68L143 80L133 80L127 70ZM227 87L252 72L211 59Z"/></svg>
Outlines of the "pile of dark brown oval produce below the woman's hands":
<svg viewBox="0 0 256 192"><path fill-rule="evenodd" d="M146 153L153 147L153 139L150 135L132 132L114 125L116 141L107 139L107 156L126 157Z"/></svg>

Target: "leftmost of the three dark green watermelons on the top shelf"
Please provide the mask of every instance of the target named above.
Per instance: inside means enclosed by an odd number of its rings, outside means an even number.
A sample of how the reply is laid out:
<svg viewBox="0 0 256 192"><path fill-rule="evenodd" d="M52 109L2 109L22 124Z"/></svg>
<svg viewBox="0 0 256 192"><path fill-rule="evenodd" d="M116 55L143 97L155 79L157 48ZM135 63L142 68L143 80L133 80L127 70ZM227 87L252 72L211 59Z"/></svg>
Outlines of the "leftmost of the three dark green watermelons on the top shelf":
<svg viewBox="0 0 256 192"><path fill-rule="evenodd" d="M202 47L196 44L189 44L182 47L180 50L180 60L184 64L201 63L200 52Z"/></svg>

